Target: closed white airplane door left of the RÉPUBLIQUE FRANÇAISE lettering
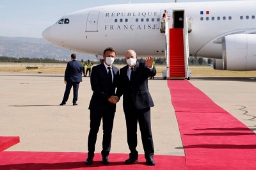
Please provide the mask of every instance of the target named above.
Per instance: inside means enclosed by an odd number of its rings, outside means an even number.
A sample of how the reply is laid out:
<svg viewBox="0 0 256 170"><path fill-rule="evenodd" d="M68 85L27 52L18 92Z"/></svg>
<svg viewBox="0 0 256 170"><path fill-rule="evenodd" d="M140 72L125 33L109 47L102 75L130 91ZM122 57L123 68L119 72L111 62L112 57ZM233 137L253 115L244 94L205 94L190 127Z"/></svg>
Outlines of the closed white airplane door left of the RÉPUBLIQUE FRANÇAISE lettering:
<svg viewBox="0 0 256 170"><path fill-rule="evenodd" d="M97 32L98 31L98 19L100 12L89 12L86 32Z"/></svg>

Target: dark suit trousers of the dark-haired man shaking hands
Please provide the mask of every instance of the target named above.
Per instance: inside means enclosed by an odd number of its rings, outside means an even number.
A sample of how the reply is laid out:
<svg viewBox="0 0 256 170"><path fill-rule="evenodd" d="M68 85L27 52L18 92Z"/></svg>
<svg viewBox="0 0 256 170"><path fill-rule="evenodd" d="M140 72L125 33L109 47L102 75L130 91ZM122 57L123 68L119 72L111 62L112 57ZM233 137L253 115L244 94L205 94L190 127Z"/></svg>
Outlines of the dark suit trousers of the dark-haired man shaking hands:
<svg viewBox="0 0 256 170"><path fill-rule="evenodd" d="M100 105L99 105L100 107ZM100 121L102 118L103 140L102 140L102 157L109 155L111 149L111 137L115 112L109 111L90 111L90 132L88 135L88 157L94 157L97 134L99 132Z"/></svg>

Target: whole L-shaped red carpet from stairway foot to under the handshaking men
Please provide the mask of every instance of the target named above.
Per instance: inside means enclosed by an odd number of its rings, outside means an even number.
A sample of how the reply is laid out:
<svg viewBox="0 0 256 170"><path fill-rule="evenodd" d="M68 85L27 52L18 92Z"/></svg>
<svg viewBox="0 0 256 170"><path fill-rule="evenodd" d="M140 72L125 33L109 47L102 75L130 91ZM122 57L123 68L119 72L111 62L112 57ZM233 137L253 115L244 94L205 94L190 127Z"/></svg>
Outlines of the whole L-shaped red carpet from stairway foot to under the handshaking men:
<svg viewBox="0 0 256 170"><path fill-rule="evenodd" d="M110 164L97 153L91 166L86 153L0 152L0 169L256 169L256 135L188 81L168 81L186 157L155 155L156 166L126 165L128 154L111 153ZM0 145L1 146L1 145ZM12 146L8 145L8 147ZM3 147L3 148L6 148Z"/></svg>

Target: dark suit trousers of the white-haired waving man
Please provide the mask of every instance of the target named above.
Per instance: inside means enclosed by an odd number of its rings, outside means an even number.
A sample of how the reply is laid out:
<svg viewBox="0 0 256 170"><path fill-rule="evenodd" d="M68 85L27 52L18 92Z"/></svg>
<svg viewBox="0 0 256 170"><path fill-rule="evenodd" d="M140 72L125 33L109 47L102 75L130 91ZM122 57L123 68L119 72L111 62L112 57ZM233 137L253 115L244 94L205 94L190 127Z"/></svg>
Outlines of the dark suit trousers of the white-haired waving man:
<svg viewBox="0 0 256 170"><path fill-rule="evenodd" d="M145 158L153 158L154 144L151 132L150 107L146 109L136 109L133 105L131 108L129 112L125 112L127 143L131 151L129 156L130 158L138 158L136 147L138 144L137 124L139 122Z"/></svg>

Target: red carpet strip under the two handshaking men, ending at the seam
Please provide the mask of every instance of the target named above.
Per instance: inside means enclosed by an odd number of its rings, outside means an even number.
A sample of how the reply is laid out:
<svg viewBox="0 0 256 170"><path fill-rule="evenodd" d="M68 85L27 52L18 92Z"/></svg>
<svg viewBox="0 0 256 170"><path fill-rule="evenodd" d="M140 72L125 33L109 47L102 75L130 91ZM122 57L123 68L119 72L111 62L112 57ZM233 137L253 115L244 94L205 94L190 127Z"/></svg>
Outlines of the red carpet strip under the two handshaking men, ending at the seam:
<svg viewBox="0 0 256 170"><path fill-rule="evenodd" d="M124 163L129 154L111 153L108 165L102 164L100 153L95 154L90 166L84 165L86 157L86 153L3 151L0 169L185 169L184 157L155 155L156 166L147 166L144 155L139 155L139 162L132 165Z"/></svg>

